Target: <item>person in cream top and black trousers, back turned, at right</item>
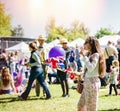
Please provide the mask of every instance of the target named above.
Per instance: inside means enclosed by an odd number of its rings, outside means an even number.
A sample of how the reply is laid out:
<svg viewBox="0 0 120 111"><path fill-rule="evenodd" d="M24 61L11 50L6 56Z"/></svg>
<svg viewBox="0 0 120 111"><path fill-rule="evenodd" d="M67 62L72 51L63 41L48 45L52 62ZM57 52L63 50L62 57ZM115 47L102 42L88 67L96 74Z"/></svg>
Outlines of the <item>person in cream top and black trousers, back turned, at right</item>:
<svg viewBox="0 0 120 111"><path fill-rule="evenodd" d="M108 41L107 47L104 50L104 55L106 58L106 72L109 73L112 61L118 58L117 48L113 45L112 41Z"/></svg>

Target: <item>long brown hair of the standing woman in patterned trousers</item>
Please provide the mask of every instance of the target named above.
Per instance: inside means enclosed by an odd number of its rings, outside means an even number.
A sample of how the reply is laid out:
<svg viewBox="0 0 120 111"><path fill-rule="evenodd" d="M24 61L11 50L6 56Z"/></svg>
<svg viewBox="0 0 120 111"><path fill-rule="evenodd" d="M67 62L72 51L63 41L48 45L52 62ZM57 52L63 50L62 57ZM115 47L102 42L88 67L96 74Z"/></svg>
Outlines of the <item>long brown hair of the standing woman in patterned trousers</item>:
<svg viewBox="0 0 120 111"><path fill-rule="evenodd" d="M106 63L103 51L100 47L99 41L96 37L89 36L85 43L89 43L91 47L91 54L99 53L99 75L104 76L106 72Z"/></svg>

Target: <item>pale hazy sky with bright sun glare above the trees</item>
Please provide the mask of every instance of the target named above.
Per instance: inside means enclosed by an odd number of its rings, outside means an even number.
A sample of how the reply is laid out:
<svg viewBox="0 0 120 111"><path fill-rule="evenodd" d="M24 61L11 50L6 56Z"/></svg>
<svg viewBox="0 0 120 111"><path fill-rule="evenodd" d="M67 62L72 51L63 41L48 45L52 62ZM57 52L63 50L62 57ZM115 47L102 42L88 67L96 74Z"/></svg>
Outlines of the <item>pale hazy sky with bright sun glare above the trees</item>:
<svg viewBox="0 0 120 111"><path fill-rule="evenodd" d="M69 28L73 21L84 22L94 35L100 28L120 31L120 0L1 0L13 27L21 25L25 37L46 36L51 17L56 25Z"/></svg>

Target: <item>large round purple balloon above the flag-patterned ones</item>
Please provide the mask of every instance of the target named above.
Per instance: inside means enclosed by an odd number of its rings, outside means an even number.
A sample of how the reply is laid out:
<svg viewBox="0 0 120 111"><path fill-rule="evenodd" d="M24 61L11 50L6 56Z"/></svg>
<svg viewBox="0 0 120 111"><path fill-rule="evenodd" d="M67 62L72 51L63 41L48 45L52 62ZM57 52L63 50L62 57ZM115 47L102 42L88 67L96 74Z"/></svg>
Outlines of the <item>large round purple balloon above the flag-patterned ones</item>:
<svg viewBox="0 0 120 111"><path fill-rule="evenodd" d="M49 52L49 58L52 57L65 57L65 51L60 46L53 47Z"/></svg>

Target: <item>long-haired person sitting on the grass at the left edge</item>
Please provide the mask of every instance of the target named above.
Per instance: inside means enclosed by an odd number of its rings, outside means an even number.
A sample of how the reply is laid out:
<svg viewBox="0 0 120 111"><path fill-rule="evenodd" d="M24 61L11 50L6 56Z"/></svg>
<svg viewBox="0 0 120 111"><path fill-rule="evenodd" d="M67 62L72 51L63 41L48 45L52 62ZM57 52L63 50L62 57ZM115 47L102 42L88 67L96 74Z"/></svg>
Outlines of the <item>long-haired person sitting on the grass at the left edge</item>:
<svg viewBox="0 0 120 111"><path fill-rule="evenodd" d="M9 68L3 67L0 78L0 94L11 94L11 93L16 93L14 80L10 74Z"/></svg>

